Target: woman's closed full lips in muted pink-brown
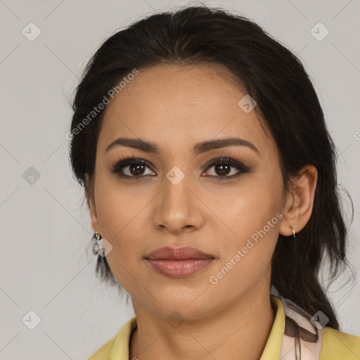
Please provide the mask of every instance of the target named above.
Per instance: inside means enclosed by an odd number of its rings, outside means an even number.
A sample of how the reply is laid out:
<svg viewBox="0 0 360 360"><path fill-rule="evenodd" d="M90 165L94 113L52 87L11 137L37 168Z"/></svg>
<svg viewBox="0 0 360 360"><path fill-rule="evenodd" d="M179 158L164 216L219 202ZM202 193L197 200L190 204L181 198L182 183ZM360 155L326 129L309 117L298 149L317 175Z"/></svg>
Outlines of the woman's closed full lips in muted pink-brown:
<svg viewBox="0 0 360 360"><path fill-rule="evenodd" d="M145 257L155 271L169 278L186 278L207 269L215 257L195 248L160 248Z"/></svg>

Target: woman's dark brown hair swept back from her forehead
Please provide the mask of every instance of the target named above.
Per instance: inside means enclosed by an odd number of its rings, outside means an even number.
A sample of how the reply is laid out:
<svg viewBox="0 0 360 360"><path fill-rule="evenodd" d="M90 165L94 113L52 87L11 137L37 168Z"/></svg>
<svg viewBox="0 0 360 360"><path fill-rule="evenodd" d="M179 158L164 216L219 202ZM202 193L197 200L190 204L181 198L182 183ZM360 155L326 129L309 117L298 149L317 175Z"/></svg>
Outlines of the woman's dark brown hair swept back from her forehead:
<svg viewBox="0 0 360 360"><path fill-rule="evenodd" d="M340 207L335 146L311 80L300 60L248 18L218 8L191 6L150 15L103 42L89 61L72 104L70 161L73 172L91 195L96 143L103 111L81 131L79 124L108 91L135 68L162 64L223 65L257 102L259 118L278 147L285 190L290 176L314 165L318 180L314 207L296 240L278 236L271 283L278 293L309 314L323 311L327 326L339 328L326 292L319 282L323 257L332 278L345 258L347 229ZM98 256L96 274L117 283L105 257Z"/></svg>

